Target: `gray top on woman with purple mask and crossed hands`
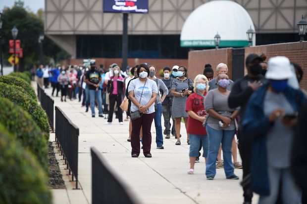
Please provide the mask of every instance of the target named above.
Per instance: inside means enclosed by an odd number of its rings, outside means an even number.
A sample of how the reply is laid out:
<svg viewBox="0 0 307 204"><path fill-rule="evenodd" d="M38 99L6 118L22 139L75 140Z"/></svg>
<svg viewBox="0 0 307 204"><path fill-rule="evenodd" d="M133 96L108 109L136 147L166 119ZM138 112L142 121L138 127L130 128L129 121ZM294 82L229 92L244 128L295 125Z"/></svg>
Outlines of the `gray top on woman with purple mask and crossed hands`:
<svg viewBox="0 0 307 204"><path fill-rule="evenodd" d="M231 114L236 110L229 108L228 96L221 94L217 88L210 90L205 97L205 111L213 109L222 116L230 117ZM230 126L226 128L219 127L218 122L220 120L210 115L207 116L206 123L209 127L216 130L233 130L236 128L235 121L231 121Z"/></svg>

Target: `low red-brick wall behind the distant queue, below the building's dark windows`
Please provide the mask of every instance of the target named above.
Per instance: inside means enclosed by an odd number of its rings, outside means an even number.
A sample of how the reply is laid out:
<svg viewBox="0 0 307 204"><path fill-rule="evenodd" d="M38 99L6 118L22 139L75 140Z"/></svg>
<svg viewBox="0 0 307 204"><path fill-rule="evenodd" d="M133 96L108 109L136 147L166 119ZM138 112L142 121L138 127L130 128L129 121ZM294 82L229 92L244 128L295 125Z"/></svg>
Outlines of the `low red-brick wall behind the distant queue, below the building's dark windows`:
<svg viewBox="0 0 307 204"><path fill-rule="evenodd" d="M122 59L121 58L93 58L96 59L97 67L100 64L103 64L104 67L109 67L111 64L116 63L121 65ZM187 59L138 59L138 58L129 58L128 65L135 66L137 64L148 63L149 65L154 65L157 68L157 71L163 69L164 67L168 66L172 68L174 65L179 66L188 66ZM68 59L61 61L63 65L79 65L83 63L83 59Z"/></svg>

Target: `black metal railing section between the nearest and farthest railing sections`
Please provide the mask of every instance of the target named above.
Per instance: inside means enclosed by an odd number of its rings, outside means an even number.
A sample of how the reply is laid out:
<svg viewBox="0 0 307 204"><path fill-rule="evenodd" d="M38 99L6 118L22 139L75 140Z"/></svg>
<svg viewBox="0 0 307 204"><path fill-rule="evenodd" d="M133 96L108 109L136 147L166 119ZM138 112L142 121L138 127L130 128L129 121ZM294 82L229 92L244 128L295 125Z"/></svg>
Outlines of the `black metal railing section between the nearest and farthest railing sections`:
<svg viewBox="0 0 307 204"><path fill-rule="evenodd" d="M55 141L69 170L68 174L71 174L71 181L74 177L76 179L76 189L78 189L78 138L79 128L59 107L55 106Z"/></svg>

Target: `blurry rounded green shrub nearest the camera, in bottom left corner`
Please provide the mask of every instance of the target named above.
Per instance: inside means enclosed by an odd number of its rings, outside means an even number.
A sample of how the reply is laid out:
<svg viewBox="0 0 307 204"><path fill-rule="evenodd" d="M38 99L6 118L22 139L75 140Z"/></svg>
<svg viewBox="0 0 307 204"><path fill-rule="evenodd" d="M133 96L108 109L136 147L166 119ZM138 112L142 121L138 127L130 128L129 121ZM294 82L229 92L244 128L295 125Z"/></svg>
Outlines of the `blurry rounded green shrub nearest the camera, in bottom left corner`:
<svg viewBox="0 0 307 204"><path fill-rule="evenodd" d="M0 204L51 204L46 172L0 125Z"/></svg>

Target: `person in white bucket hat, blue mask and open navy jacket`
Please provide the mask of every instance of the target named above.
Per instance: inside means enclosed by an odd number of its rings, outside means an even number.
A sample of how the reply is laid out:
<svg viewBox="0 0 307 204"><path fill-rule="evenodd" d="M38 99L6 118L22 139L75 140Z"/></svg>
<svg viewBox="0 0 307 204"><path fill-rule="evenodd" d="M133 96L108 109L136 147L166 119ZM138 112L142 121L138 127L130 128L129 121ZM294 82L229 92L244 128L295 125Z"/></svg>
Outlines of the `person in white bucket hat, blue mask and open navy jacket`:
<svg viewBox="0 0 307 204"><path fill-rule="evenodd" d="M287 57L272 57L265 78L251 96L242 122L245 135L253 139L251 190L258 204L274 204L279 186L284 204L300 204L302 193L291 172L291 148L297 115L307 102L303 92L288 85L293 76Z"/></svg>

